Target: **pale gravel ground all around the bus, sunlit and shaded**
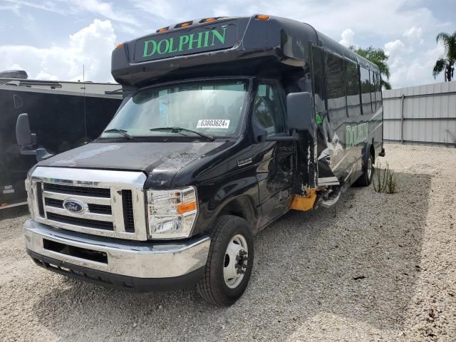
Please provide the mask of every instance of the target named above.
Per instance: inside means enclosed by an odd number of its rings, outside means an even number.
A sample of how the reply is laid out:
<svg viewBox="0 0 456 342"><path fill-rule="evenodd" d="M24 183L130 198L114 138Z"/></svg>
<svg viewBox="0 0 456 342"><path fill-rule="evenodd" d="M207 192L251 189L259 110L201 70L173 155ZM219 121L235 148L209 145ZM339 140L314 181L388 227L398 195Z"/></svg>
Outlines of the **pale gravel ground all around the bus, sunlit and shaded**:
<svg viewBox="0 0 456 342"><path fill-rule="evenodd" d="M0 221L0 341L456 341L456 149L386 145L398 193L353 188L255 239L227 309L195 289L128 294L33 264Z"/></svg>

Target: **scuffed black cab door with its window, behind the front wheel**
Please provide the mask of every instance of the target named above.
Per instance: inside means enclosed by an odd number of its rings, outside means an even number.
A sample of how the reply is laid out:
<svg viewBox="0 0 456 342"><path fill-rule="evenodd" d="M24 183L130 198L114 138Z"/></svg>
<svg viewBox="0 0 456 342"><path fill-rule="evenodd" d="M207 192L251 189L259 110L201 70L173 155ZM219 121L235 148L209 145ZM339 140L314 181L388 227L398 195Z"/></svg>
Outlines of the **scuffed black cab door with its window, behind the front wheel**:
<svg viewBox="0 0 456 342"><path fill-rule="evenodd" d="M252 115L267 136L286 135L284 103L279 83L260 82ZM266 141L254 146L258 160L259 202L263 212L261 226L289 210L292 200L295 143Z"/></svg>

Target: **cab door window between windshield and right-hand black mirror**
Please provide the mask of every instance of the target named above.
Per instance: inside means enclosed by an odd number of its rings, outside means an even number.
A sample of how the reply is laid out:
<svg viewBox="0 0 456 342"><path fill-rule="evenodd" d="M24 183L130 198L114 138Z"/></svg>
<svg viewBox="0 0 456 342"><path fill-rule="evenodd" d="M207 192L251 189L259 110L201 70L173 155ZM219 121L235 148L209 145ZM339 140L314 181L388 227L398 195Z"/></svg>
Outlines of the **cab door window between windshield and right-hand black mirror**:
<svg viewBox="0 0 456 342"><path fill-rule="evenodd" d="M254 115L267 135L284 133L284 111L275 86L260 84L254 102Z"/></svg>

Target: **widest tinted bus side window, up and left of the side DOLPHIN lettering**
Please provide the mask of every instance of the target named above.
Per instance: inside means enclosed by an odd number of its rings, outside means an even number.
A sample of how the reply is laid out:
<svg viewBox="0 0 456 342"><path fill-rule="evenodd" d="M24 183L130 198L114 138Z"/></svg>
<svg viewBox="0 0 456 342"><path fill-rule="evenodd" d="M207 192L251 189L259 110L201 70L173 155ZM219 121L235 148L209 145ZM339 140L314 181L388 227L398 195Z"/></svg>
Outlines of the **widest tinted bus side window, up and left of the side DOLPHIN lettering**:
<svg viewBox="0 0 456 342"><path fill-rule="evenodd" d="M325 53L326 94L330 120L346 118L345 81L343 80L343 59Z"/></svg>

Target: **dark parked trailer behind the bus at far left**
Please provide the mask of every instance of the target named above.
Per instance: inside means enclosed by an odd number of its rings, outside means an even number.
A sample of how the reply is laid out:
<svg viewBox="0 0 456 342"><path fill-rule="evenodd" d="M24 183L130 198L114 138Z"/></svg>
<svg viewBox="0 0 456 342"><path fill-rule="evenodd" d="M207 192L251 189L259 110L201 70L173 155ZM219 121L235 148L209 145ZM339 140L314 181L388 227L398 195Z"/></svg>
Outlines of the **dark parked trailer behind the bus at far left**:
<svg viewBox="0 0 456 342"><path fill-rule="evenodd" d="M26 202L24 180L36 164L36 157L21 155L16 143L14 128L19 114L28 113L38 144L55 154L98 138L122 101L121 91L115 95L120 89L115 84L26 77L24 71L0 73L0 209ZM84 87L88 88L86 94Z"/></svg>

